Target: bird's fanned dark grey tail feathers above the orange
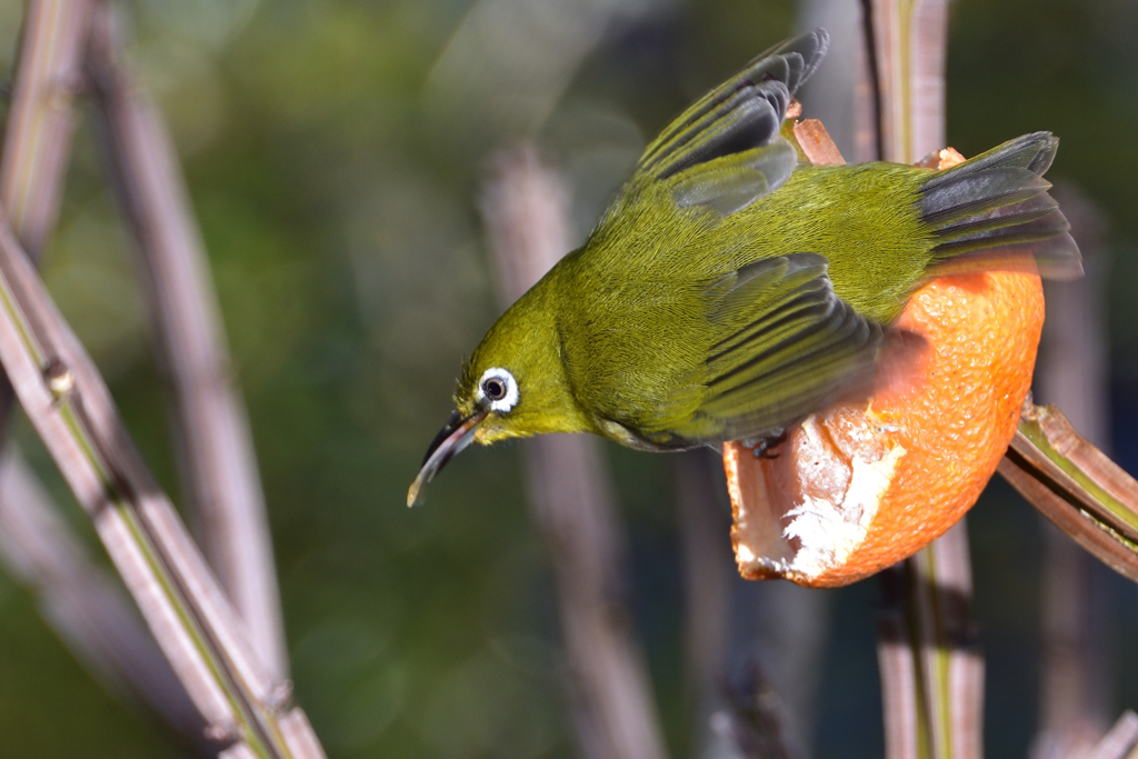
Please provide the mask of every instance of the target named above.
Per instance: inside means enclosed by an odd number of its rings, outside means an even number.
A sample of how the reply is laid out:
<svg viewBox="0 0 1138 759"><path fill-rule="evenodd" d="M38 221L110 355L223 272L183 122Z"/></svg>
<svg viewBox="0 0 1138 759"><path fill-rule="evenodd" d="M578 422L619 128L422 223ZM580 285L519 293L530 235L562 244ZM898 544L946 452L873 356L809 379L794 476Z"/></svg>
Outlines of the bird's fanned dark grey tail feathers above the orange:
<svg viewBox="0 0 1138 759"><path fill-rule="evenodd" d="M1022 270L1033 262L1049 279L1082 274L1071 225L1042 178L1058 142L1049 132L1024 134L921 187L921 216L938 239L933 273Z"/></svg>

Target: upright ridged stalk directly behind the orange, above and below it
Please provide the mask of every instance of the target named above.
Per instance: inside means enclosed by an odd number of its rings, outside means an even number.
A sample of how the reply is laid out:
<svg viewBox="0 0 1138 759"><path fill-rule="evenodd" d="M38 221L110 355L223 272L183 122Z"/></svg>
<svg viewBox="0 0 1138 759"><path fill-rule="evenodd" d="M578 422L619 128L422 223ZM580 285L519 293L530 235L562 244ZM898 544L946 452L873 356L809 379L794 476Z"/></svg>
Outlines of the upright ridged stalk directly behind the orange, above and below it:
<svg viewBox="0 0 1138 759"><path fill-rule="evenodd" d="M863 0L880 157L916 163L945 146L947 0ZM960 759L983 751L983 659L970 622L972 572L962 520L907 560L904 618L879 646L889 759ZM892 620L892 621L890 621ZM900 621L887 616L883 633ZM904 641L908 649L900 645ZM912 663L899 658L912 657ZM888 679L884 677L888 675ZM902 694L908 694L902 698Z"/></svg>

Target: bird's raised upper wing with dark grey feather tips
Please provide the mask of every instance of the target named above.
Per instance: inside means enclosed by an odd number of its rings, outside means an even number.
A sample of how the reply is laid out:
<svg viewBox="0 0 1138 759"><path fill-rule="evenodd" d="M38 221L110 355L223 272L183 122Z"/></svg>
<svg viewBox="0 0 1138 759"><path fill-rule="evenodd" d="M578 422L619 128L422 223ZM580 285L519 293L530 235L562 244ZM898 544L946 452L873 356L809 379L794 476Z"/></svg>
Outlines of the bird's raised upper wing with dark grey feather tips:
<svg viewBox="0 0 1138 759"><path fill-rule="evenodd" d="M780 137L791 96L822 63L825 30L787 40L703 96L644 150L632 185L666 182L676 204L726 216L773 192L798 165Z"/></svg>

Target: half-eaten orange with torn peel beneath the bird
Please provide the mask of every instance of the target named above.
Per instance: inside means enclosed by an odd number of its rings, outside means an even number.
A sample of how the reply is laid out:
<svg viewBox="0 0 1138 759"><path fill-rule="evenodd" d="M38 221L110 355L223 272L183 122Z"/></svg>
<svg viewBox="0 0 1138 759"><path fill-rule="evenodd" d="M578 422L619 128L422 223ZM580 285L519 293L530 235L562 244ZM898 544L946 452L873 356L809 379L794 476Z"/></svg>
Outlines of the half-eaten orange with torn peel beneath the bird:
<svg viewBox="0 0 1138 759"><path fill-rule="evenodd" d="M904 387L883 361L868 402L810 415L776 459L725 445L740 574L846 585L955 525L1015 435L1042 323L1036 273L933 280L897 324L926 341Z"/></svg>

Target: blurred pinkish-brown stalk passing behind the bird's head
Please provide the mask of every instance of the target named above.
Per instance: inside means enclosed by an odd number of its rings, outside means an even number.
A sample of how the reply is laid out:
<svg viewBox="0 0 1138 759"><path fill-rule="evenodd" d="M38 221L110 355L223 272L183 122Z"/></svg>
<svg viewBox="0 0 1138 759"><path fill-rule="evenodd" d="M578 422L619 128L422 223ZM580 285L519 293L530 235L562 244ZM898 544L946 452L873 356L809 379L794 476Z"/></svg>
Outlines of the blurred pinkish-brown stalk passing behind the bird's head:
<svg viewBox="0 0 1138 759"><path fill-rule="evenodd" d="M569 249L566 198L533 148L500 156L483 199L500 300L509 305ZM662 759L643 655L621 597L621 536L597 440L526 440L530 510L550 550L578 739L593 759Z"/></svg>

